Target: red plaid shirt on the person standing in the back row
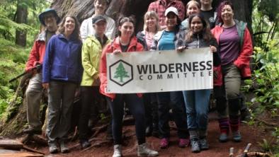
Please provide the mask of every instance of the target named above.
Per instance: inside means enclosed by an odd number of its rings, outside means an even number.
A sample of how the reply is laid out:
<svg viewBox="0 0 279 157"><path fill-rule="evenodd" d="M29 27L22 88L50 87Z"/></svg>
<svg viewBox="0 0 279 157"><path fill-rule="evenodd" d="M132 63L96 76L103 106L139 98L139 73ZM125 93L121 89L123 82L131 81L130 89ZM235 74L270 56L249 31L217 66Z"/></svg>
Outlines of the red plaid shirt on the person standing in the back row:
<svg viewBox="0 0 279 157"><path fill-rule="evenodd" d="M181 21L184 20L185 17L185 6L182 1L179 0L158 0L149 4L148 11L155 11L159 17L159 25L165 25L165 11L166 8L170 6L174 6L177 8L179 13L179 18Z"/></svg>

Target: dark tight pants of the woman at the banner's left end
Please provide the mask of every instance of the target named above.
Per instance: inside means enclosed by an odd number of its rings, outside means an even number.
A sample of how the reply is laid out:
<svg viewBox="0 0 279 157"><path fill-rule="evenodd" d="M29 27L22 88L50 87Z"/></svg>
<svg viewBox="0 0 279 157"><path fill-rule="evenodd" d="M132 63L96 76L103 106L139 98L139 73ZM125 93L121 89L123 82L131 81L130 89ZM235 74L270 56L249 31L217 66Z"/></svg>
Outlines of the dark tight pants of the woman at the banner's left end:
<svg viewBox="0 0 279 157"><path fill-rule="evenodd" d="M129 108L132 116L135 118L137 143L145 143L145 117L144 103L137 94L116 94L115 98L106 97L110 112L113 116L113 141L114 144L122 144L122 122L124 114L124 103Z"/></svg>

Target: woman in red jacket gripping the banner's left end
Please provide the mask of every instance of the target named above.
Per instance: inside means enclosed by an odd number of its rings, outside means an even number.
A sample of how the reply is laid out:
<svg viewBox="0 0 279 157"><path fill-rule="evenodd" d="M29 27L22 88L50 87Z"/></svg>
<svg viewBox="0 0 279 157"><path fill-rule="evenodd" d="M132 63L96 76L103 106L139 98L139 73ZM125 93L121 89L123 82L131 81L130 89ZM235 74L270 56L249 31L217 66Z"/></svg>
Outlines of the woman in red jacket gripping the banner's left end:
<svg viewBox="0 0 279 157"><path fill-rule="evenodd" d="M106 95L106 100L110 106L110 112L113 117L113 140L114 153L113 157L122 156L122 120L124 112L124 103L129 108L133 117L135 117L135 127L137 136L137 156L157 156L158 152L147 148L145 141L145 121L144 121L144 104L142 94L114 94L107 93L107 69L106 69L106 54L113 53L119 55L122 52L139 52L143 51L143 46L137 42L134 35L135 20L132 17L124 17L118 20L118 34L113 42L105 47L102 53L100 62L100 91Z"/></svg>

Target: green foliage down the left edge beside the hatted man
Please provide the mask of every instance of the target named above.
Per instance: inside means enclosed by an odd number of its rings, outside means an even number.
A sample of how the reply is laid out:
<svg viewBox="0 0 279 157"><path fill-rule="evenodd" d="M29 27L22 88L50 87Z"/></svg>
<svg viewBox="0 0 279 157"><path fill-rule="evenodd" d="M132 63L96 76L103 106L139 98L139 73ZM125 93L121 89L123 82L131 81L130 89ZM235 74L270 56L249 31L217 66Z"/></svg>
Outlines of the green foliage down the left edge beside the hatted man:
<svg viewBox="0 0 279 157"><path fill-rule="evenodd" d="M23 73L25 62L28 59L30 48L36 35L40 32L38 14L49 7L45 0L6 0L0 1L0 117L13 100L18 81L8 83L13 77ZM28 7L28 23L19 24L14 22L16 8ZM27 47L18 47L14 44L16 30L27 33ZM16 104L21 104L22 99L17 98ZM9 108L8 110L13 110ZM9 117L11 115L6 115Z"/></svg>

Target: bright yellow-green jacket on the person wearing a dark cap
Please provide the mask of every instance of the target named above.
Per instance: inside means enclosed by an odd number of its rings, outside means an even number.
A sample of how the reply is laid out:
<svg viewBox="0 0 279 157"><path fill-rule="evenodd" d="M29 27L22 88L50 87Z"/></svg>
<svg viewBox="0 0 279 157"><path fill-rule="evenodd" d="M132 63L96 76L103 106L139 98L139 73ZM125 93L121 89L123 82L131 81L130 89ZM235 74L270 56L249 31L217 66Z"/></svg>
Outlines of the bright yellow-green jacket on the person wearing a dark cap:
<svg viewBox="0 0 279 157"><path fill-rule="evenodd" d="M106 45L108 43L110 43L109 39L106 41ZM99 86L98 69L101 54L101 43L94 36L87 37L82 45L81 52L81 62L84 67L81 86Z"/></svg>

